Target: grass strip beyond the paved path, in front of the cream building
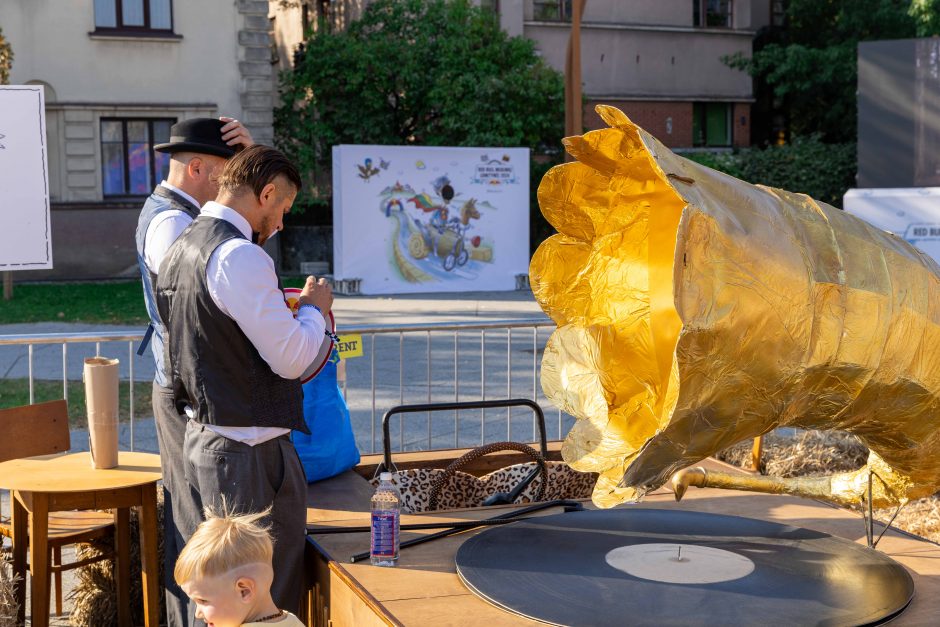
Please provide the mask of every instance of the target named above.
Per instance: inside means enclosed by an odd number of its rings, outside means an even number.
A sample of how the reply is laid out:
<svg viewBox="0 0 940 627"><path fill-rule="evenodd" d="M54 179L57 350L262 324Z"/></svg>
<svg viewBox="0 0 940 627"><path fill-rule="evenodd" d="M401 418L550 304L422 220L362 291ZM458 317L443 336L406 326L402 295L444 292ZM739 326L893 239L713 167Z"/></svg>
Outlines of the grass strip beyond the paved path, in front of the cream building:
<svg viewBox="0 0 940 627"><path fill-rule="evenodd" d="M303 287L300 277L284 287ZM0 300L0 324L88 322L144 326L149 322L139 280L14 284L13 300ZM143 330L143 329L141 329Z"/></svg>

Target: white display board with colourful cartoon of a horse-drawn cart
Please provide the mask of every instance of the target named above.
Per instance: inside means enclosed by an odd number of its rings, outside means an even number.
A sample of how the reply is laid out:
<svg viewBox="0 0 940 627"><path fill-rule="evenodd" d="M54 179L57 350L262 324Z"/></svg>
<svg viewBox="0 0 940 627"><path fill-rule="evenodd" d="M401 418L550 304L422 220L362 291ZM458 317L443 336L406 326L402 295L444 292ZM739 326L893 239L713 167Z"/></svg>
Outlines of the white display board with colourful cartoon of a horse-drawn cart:
<svg viewBox="0 0 940 627"><path fill-rule="evenodd" d="M333 276L363 294L513 290L529 149L333 148Z"/></svg>

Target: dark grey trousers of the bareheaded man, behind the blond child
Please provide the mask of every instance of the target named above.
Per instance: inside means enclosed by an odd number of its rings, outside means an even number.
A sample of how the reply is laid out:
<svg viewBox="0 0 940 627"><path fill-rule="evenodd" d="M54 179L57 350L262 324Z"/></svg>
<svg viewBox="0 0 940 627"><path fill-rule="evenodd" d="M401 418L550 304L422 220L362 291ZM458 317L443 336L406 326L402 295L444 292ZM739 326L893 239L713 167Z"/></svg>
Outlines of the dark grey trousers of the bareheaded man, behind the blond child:
<svg viewBox="0 0 940 627"><path fill-rule="evenodd" d="M183 439L186 480L200 499L197 512L173 516L187 524L203 507L221 512L223 500L232 513L271 507L265 521L274 540L274 583L271 596L281 609L300 613L304 580L307 481L297 451L286 435L249 446L216 434L195 421L186 423ZM193 504L187 505L191 507ZM189 539L195 526L181 528ZM192 614L190 614L192 616Z"/></svg>

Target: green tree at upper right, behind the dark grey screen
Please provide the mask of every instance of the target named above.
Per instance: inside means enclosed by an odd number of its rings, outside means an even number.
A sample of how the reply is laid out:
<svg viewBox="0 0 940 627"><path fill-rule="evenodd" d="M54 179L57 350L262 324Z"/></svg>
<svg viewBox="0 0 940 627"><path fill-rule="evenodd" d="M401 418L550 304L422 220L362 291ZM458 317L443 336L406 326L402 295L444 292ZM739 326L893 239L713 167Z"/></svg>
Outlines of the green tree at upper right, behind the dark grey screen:
<svg viewBox="0 0 940 627"><path fill-rule="evenodd" d="M790 0L787 27L751 58L726 59L769 85L795 135L827 142L856 137L858 42L940 33L938 0Z"/></svg>

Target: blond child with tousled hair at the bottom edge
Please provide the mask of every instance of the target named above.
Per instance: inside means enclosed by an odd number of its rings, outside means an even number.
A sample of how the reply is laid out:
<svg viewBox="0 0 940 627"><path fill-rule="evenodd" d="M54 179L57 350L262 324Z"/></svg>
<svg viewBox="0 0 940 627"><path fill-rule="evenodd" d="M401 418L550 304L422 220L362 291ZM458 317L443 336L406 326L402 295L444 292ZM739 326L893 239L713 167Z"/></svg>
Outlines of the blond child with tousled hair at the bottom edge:
<svg viewBox="0 0 940 627"><path fill-rule="evenodd" d="M209 627L303 627L271 599L273 544L259 521L270 512L206 514L176 561L173 576Z"/></svg>

